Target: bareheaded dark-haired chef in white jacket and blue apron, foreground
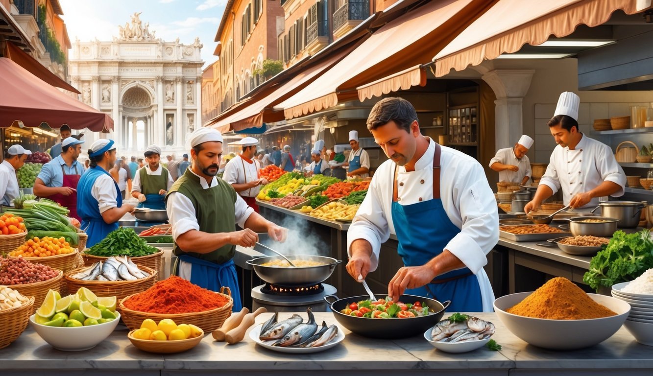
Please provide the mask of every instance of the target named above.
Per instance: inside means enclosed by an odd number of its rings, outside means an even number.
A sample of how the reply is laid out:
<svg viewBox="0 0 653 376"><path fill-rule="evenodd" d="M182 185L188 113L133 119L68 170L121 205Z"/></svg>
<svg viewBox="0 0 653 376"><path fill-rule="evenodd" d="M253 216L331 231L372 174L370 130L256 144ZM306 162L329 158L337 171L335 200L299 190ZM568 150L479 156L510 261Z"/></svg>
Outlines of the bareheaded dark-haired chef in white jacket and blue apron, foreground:
<svg viewBox="0 0 653 376"><path fill-rule="evenodd" d="M492 311L483 266L498 242L499 218L483 166L422 136L415 108L404 99L377 102L367 124L390 159L374 174L347 231L347 272L364 280L383 262L379 250L392 232L404 261L388 285L393 300L413 294L451 300L451 312Z"/></svg>

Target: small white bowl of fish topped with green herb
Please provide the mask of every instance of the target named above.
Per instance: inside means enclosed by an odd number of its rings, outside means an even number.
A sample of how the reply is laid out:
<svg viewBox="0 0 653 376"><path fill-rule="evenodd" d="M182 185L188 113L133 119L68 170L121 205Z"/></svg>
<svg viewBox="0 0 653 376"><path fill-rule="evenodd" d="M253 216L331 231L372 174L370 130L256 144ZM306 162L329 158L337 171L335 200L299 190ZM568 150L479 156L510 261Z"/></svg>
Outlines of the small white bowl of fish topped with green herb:
<svg viewBox="0 0 653 376"><path fill-rule="evenodd" d="M494 330L492 322L454 313L426 330L424 338L445 353L467 353L485 346Z"/></svg>

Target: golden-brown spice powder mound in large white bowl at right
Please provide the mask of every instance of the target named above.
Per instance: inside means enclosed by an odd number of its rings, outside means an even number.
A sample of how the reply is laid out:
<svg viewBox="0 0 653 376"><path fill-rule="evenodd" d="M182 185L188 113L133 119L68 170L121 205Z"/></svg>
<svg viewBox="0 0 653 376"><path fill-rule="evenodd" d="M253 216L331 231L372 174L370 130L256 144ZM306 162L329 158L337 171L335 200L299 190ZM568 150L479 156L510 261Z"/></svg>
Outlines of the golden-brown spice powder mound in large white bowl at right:
<svg viewBox="0 0 653 376"><path fill-rule="evenodd" d="M550 279L507 312L553 320L599 319L616 315L607 307L594 302L580 287L565 277Z"/></svg>

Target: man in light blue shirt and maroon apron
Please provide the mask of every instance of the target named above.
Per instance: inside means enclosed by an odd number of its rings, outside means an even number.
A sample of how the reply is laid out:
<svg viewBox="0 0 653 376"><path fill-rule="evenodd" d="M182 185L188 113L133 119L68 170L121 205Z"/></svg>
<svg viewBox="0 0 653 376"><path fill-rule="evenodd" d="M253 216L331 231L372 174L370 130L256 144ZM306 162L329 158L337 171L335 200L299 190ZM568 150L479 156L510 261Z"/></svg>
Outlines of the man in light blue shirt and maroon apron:
<svg viewBox="0 0 653 376"><path fill-rule="evenodd" d="M47 197L68 208L70 217L82 219L77 215L77 183L84 174L84 166L77 161L82 153L82 144L74 137L61 142L61 154L44 164L34 182L34 194Z"/></svg>

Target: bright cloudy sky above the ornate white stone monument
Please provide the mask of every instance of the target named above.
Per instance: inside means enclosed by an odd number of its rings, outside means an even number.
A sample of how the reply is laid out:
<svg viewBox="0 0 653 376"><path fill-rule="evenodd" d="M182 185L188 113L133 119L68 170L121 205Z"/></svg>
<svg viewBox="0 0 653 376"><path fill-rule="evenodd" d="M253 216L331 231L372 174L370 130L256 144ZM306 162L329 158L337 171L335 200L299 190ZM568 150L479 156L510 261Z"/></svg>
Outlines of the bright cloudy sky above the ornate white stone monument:
<svg viewBox="0 0 653 376"><path fill-rule="evenodd" d="M183 44L192 44L195 37L204 44L204 68L216 56L214 37L222 19L227 0L59 0L63 20L71 42L75 37L82 42L112 40L118 36L118 25L131 22L131 14L142 12L143 25L150 23L156 37Z"/></svg>

